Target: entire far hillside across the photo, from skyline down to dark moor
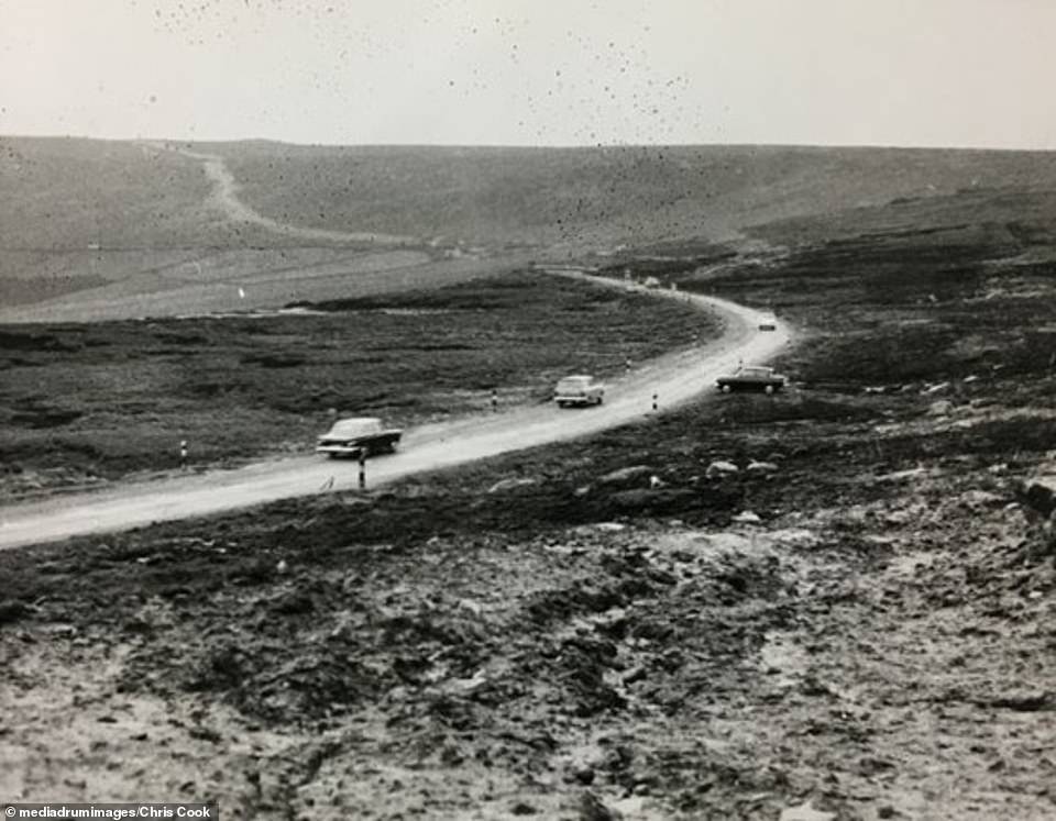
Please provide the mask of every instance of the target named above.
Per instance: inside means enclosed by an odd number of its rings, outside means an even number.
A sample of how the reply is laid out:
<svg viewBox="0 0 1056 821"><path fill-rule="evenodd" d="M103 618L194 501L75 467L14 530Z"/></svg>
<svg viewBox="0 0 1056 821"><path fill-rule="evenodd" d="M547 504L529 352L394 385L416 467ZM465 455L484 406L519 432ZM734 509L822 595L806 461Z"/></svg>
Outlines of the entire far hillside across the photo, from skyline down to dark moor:
<svg viewBox="0 0 1056 821"><path fill-rule="evenodd" d="M226 212L179 152L222 160L254 220ZM758 251L969 222L971 198L1048 220L1056 154L6 137L0 187L0 322L72 321L274 308L624 247Z"/></svg>

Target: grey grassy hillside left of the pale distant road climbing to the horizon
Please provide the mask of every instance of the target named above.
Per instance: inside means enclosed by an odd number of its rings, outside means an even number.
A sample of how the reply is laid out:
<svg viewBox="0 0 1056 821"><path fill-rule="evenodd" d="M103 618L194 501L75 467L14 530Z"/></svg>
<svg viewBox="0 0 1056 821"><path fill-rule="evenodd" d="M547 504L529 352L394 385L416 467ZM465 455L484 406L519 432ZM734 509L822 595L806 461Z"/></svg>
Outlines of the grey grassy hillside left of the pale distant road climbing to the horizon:
<svg viewBox="0 0 1056 821"><path fill-rule="evenodd" d="M4 309L113 282L165 289L223 249L289 244L205 208L198 166L134 142L0 137L0 189Z"/></svg>

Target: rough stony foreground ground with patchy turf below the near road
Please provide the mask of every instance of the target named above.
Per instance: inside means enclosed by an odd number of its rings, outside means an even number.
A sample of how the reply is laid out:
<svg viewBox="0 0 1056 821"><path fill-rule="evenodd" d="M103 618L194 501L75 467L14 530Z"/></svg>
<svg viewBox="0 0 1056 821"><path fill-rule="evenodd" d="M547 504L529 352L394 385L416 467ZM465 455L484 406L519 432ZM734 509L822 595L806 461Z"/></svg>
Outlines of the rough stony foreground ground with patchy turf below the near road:
<svg viewBox="0 0 1056 821"><path fill-rule="evenodd" d="M570 489L638 506L681 484L714 524L317 537L422 482L299 528L276 510L8 554L0 792L264 818L1050 818L1056 542L1023 479L1054 456L829 477L850 504L793 459ZM741 509L790 482L815 503Z"/></svg>

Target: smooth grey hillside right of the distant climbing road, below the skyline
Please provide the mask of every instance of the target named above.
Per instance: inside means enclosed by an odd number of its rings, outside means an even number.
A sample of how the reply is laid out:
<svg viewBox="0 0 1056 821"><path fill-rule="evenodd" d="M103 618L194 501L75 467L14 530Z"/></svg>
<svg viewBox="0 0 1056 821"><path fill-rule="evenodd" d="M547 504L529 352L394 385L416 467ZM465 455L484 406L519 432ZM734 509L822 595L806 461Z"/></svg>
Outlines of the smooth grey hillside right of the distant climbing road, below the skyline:
<svg viewBox="0 0 1056 821"><path fill-rule="evenodd" d="M1056 154L673 146L212 146L265 213L471 243L576 248L728 238L747 225L971 187L1052 189Z"/></svg>

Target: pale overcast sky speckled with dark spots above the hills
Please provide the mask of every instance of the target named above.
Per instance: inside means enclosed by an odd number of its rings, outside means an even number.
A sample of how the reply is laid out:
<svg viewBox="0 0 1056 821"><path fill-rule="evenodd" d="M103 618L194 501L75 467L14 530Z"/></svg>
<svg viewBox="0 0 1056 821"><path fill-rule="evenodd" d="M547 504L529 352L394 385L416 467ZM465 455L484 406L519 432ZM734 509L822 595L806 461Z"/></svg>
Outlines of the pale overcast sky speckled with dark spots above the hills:
<svg viewBox="0 0 1056 821"><path fill-rule="evenodd" d="M0 0L0 134L1056 148L1053 0Z"/></svg>

